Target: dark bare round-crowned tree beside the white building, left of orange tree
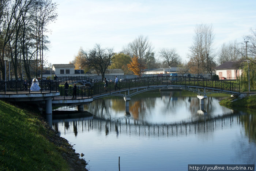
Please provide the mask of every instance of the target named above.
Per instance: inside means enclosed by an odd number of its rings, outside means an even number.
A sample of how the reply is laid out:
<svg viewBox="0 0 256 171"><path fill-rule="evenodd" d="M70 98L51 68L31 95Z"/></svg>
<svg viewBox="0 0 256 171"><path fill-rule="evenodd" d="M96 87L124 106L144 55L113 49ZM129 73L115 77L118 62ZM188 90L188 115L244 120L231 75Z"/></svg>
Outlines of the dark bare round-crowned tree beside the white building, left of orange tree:
<svg viewBox="0 0 256 171"><path fill-rule="evenodd" d="M110 66L113 59L113 48L102 49L99 44L96 44L93 49L89 50L89 52L83 53L87 59L86 65L100 72L103 81L106 69Z"/></svg>

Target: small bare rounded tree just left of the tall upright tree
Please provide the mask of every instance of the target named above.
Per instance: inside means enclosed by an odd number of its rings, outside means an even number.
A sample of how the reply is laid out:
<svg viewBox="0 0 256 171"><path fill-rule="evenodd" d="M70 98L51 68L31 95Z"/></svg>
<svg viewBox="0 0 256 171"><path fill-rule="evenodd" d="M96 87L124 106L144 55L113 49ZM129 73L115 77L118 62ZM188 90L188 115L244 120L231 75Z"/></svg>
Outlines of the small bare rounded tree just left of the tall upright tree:
<svg viewBox="0 0 256 171"><path fill-rule="evenodd" d="M161 49L159 51L159 56L163 58L163 64L167 66L178 66L181 63L181 58L175 49Z"/></svg>

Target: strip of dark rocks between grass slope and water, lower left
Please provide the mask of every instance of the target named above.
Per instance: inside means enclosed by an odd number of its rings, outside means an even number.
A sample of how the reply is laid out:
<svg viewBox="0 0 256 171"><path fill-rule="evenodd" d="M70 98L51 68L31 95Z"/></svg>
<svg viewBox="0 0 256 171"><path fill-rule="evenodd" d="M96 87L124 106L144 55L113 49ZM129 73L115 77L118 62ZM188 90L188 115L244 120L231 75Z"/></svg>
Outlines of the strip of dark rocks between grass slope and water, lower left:
<svg viewBox="0 0 256 171"><path fill-rule="evenodd" d="M67 160L70 170L88 171L85 168L87 165L86 161L84 159L79 158L80 154L75 152L75 149L72 145L68 143L68 140L66 140L63 137L60 137L59 133L53 130L46 121L42 122L44 123L46 129L48 129L48 140L55 144L57 147L59 147L60 153L63 159ZM81 153L81 156L83 156L83 153Z"/></svg>

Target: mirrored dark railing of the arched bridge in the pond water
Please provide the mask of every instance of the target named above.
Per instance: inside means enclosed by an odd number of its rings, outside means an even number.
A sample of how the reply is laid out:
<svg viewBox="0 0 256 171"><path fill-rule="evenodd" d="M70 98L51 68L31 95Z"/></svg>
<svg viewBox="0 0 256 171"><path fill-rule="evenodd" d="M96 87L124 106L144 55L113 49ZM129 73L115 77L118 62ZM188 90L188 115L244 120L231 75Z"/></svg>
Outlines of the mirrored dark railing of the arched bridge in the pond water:
<svg viewBox="0 0 256 171"><path fill-rule="evenodd" d="M73 121L53 121L53 129L61 134L72 134L98 130L105 134L116 133L139 136L187 136L214 132L215 130L230 128L240 125L240 114L227 114L207 119L203 117L199 121L180 122L172 124L139 123L130 117L119 118L115 121L89 118L88 120L74 119Z"/></svg>

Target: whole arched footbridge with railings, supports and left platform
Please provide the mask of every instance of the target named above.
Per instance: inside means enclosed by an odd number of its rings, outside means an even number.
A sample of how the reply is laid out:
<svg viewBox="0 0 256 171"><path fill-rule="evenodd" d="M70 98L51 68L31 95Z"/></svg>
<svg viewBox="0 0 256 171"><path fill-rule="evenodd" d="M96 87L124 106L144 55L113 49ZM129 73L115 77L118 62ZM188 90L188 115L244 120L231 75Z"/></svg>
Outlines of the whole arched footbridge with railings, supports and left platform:
<svg viewBox="0 0 256 171"><path fill-rule="evenodd" d="M123 96L125 106L128 108L129 100L133 95L160 88L193 91L201 99L201 105L204 104L204 99L207 98L208 94L240 95L240 84L186 76L151 76L125 79L120 81L117 87L115 87L114 82L109 81L106 90L103 84L92 87L78 86L76 99L72 99L72 87L64 89L64 86L59 86L58 81L39 81L41 90L38 92L32 92L29 88L24 90L23 81L1 81L0 84L0 99L36 101L38 104L46 104L46 114L52 114L52 106L80 106L79 109L83 110L83 104L108 96ZM29 83L28 87L30 85ZM41 98L41 96L47 96L47 98Z"/></svg>

